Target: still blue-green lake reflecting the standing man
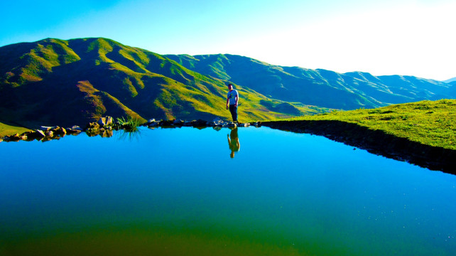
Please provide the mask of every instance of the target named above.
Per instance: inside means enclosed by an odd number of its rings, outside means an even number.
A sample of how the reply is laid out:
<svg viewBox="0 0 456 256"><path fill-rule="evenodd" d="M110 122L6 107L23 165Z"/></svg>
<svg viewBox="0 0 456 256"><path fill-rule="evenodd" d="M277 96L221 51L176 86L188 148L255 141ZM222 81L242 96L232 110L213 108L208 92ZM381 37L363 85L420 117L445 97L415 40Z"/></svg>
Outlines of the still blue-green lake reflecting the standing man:
<svg viewBox="0 0 456 256"><path fill-rule="evenodd" d="M455 255L456 176L267 127L0 143L0 255Z"/></svg>

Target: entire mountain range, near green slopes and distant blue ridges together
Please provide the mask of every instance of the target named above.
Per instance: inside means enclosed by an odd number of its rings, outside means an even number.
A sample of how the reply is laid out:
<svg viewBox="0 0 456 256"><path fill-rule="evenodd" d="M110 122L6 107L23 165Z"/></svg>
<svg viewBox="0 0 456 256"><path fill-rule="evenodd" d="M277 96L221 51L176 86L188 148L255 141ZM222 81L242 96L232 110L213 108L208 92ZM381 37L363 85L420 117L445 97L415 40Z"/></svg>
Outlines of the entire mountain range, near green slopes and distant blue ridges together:
<svg viewBox="0 0 456 256"><path fill-rule="evenodd" d="M456 98L455 82L335 73L229 55L159 55L107 38L48 38L0 48L0 122L84 125L99 117L265 120Z"/></svg>

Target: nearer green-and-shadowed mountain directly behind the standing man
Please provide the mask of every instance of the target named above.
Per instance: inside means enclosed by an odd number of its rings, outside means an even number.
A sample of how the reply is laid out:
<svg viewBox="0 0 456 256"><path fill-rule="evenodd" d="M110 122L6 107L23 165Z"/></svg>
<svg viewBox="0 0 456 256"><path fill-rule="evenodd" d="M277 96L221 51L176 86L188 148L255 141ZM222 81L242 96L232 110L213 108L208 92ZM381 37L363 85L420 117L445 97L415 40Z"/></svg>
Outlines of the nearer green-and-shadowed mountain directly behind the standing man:
<svg viewBox="0 0 456 256"><path fill-rule="evenodd" d="M107 38L48 38L0 48L0 122L84 125L101 116L213 119L225 110L225 80ZM234 85L242 119L324 112Z"/></svg>

